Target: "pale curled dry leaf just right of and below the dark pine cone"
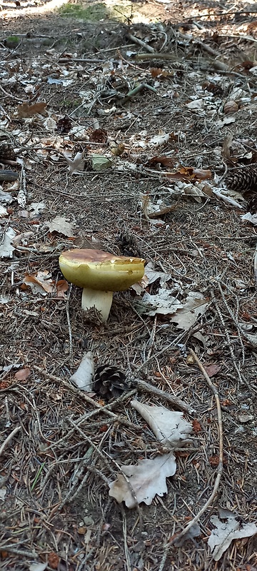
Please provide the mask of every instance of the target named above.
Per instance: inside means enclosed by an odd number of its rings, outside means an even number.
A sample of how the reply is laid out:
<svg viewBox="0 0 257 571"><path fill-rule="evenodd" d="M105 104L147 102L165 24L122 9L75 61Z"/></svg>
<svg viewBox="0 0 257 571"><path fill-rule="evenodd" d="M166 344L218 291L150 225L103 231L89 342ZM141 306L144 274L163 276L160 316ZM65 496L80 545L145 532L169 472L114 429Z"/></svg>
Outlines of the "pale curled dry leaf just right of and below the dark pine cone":
<svg viewBox="0 0 257 571"><path fill-rule="evenodd" d="M148 406L138 400L132 400L131 406L146 420L163 445L176 448L183 440L188 440L192 425L184 420L183 413L162 406Z"/></svg>

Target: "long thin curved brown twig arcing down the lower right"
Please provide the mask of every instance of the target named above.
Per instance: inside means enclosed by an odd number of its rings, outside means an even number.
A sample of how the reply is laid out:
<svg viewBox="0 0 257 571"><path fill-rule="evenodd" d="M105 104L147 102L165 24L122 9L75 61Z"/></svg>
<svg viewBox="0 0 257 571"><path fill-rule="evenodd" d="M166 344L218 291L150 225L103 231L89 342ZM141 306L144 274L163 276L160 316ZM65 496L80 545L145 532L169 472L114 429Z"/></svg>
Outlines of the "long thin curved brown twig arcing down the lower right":
<svg viewBox="0 0 257 571"><path fill-rule="evenodd" d="M211 382L210 377L206 373L205 368L201 364L201 361L198 359L198 357L197 357L196 353L193 351L193 349L189 349L189 352L191 353L192 357L196 361L198 368L201 370L201 373L203 373L203 377L206 379L209 387L211 388L211 390L213 392L215 400L216 400L217 415L218 415L218 440L219 440L218 469L217 469L216 480L214 483L213 492L211 493L211 496L208 498L207 502L203 505L201 510L198 512L198 514L195 515L195 517L193 517L193 520L191 520L191 522L189 522L188 525L183 529L183 531L178 533L178 535L175 535L173 537L173 539L168 543L167 549L165 550L165 552L163 554L163 559L161 560L161 565L160 565L158 571L163 570L163 566L164 566L164 563L166 562L166 558L168 555L168 548L171 547L171 545L174 545L177 541L179 541L181 539L181 537L186 535L186 533L191 529L191 527L193 527L193 525L196 522L198 522L200 517L203 515L204 512L206 512L209 505L211 505L211 503L213 502L214 497L216 496L216 493L218 491L218 486L220 484L221 475L223 472L223 430L222 430L222 417L221 417L221 403L220 403L219 396L218 396L218 390L217 390L216 386L213 385L213 383Z"/></svg>

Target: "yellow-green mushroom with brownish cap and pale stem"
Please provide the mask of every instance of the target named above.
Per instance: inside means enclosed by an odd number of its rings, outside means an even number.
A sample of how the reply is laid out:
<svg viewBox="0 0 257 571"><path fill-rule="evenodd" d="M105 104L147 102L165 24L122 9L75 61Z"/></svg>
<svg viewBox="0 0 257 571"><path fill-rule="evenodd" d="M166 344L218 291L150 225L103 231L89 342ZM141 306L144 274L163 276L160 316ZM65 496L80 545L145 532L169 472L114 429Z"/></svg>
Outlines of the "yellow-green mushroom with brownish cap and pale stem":
<svg viewBox="0 0 257 571"><path fill-rule="evenodd" d="M143 278L144 260L115 256L101 250L68 250L59 266L64 278L83 288L81 307L96 308L103 322L109 317L114 291L124 291Z"/></svg>

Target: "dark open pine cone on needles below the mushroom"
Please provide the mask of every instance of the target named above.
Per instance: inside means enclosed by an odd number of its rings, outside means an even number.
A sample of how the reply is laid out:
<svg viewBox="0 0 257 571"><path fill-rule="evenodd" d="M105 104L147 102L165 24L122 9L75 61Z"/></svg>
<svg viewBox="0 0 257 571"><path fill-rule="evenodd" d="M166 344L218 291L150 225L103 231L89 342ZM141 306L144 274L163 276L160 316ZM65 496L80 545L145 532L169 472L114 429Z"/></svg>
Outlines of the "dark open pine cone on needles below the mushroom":
<svg viewBox="0 0 257 571"><path fill-rule="evenodd" d="M112 365L101 365L96 369L93 380L93 390L96 394L109 400L118 398L122 393L129 390L129 385L125 383L126 377L121 370Z"/></svg>

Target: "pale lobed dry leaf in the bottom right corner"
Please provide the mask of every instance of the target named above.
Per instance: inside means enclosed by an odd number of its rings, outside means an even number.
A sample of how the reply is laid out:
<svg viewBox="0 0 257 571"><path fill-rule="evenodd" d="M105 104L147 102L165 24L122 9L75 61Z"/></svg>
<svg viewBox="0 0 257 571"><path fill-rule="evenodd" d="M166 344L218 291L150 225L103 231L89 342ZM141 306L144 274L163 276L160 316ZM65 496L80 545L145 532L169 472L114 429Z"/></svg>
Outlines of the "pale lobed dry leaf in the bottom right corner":
<svg viewBox="0 0 257 571"><path fill-rule="evenodd" d="M208 538L208 546L215 561L221 559L223 553L231 545L231 541L241 537L253 537L257 533L257 527L254 523L241 523L240 518L229 510L220 508L218 511L221 519L226 521L222 522L216 515L211 517L211 523L215 525L216 529L212 530Z"/></svg>

